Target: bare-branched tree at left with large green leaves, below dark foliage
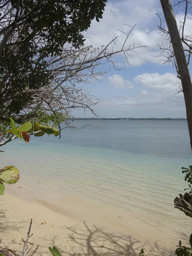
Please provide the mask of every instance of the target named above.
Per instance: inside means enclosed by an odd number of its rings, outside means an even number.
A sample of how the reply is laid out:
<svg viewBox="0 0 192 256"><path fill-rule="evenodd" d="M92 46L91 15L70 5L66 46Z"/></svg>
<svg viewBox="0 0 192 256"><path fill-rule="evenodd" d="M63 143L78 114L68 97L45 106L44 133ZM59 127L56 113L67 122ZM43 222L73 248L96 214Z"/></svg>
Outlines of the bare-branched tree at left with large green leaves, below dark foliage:
<svg viewBox="0 0 192 256"><path fill-rule="evenodd" d="M63 128L61 128L60 123L66 122L69 125L67 119L72 116L71 111L73 109L88 109L95 114L93 106L97 104L98 100L93 98L89 91L84 90L83 83L102 79L102 76L108 72L111 66L117 70L123 68L114 59L117 54L123 53L125 61L128 62L130 52L135 51L138 47L145 47L144 45L136 47L126 44L132 30L133 27L128 32L123 31L125 40L119 47L116 45L117 37L115 37L101 48L94 48L92 45L78 48L74 47L73 44L65 44L60 49L59 55L43 55L41 60L46 61L46 72L49 73L49 76L47 77L47 84L42 86L35 84L34 87L31 87L29 84L25 84L22 90L18 87L15 94L14 81L12 83L11 80L12 77L15 77L15 73L12 73L10 82L6 81L6 86L2 87L0 146L16 138L28 143L30 135L37 137L44 134L61 136ZM15 52L17 53L16 48ZM38 60L39 55L34 55L32 61L35 67L39 63ZM106 65L107 69L104 69L103 65ZM27 76L28 73L23 73L24 79ZM19 86L20 82L18 82ZM19 105L20 102L17 102L17 111L15 111L12 103L15 99L21 100L25 97L27 99L24 104L21 102L21 106ZM3 179L5 174L6 179ZM15 166L6 166L0 169L0 175L0 194L2 195L4 192L3 183L17 182L20 174Z"/></svg>

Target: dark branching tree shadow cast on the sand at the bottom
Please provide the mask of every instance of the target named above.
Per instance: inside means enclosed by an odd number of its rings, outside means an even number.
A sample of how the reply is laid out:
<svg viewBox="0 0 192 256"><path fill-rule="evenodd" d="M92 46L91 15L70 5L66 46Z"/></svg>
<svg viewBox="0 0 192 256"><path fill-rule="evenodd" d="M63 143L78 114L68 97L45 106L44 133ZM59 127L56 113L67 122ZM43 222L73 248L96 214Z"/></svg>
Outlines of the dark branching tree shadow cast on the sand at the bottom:
<svg viewBox="0 0 192 256"><path fill-rule="evenodd" d="M49 244L58 248L61 254L69 256L139 256L142 248L146 256L173 256L175 252L166 250L158 243L151 245L148 241L142 242L139 239L122 233L109 233L105 228L98 228L95 225L90 228L84 221L71 227L62 227L68 231L68 240L55 236ZM72 243L67 244L68 241ZM60 246L64 245L64 246Z"/></svg>

